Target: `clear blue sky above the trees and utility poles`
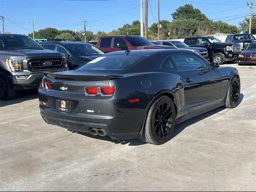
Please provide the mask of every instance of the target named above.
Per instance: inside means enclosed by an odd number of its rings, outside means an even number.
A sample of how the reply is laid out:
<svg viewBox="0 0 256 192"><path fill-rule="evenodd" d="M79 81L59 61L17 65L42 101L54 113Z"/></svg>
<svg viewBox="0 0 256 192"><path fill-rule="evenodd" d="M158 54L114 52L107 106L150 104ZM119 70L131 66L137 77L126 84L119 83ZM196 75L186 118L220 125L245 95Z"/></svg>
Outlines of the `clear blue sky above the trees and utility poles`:
<svg viewBox="0 0 256 192"><path fill-rule="evenodd" d="M157 22L158 16L157 0L149 2L152 11L148 6L148 26ZM228 20L229 24L238 26L250 14L246 2L250 0L160 0L160 19L171 21L171 14L179 6L192 4L214 21ZM256 6L252 12L256 12ZM81 21L86 20L86 30L110 32L140 20L140 0L0 0L0 15L6 18L4 30L18 34L32 32L32 20L36 31L46 27L80 31L83 30Z"/></svg>

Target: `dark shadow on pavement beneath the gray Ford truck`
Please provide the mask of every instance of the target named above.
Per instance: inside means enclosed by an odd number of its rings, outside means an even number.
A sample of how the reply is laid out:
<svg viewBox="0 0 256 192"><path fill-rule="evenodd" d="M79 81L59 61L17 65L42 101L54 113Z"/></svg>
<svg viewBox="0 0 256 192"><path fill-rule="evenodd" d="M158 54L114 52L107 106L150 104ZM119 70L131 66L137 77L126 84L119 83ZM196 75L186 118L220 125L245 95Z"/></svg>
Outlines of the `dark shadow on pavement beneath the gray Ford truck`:
<svg viewBox="0 0 256 192"><path fill-rule="evenodd" d="M32 100L38 98L38 90L37 89L28 89L17 91L16 97L12 100L3 101L0 100L0 107L21 103L27 100ZM39 102L38 102L39 104Z"/></svg>

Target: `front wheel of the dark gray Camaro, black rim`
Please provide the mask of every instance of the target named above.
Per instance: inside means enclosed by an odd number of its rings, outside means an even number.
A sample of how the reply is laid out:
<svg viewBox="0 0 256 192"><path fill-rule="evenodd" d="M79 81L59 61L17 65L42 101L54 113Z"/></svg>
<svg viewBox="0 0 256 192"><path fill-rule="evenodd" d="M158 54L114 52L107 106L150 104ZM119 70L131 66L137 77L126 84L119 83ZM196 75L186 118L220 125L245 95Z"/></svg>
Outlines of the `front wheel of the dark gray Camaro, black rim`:
<svg viewBox="0 0 256 192"><path fill-rule="evenodd" d="M240 81L237 77L233 77L228 86L228 92L225 100L224 107L235 108L238 106L240 98Z"/></svg>

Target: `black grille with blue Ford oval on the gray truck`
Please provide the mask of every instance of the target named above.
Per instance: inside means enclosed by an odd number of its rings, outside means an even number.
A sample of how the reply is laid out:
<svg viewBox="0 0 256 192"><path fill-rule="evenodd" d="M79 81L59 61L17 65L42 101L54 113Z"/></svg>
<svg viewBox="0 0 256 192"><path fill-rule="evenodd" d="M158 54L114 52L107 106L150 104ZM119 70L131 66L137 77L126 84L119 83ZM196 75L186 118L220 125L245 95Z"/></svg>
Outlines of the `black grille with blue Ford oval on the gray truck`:
<svg viewBox="0 0 256 192"><path fill-rule="evenodd" d="M46 63L51 63L46 65ZM30 71L58 70L62 69L64 62L62 58L38 58L28 60L28 69Z"/></svg>

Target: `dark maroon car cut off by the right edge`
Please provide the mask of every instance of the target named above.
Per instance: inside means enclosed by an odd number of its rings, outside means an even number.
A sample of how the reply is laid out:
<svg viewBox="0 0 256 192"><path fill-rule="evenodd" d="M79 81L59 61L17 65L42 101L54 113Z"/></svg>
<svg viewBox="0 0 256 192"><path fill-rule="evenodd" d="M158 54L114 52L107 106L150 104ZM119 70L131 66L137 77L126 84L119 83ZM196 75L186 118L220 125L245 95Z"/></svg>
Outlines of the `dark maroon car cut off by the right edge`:
<svg viewBox="0 0 256 192"><path fill-rule="evenodd" d="M256 64L256 43L251 43L238 56L238 65Z"/></svg>

